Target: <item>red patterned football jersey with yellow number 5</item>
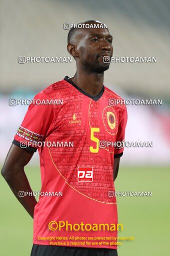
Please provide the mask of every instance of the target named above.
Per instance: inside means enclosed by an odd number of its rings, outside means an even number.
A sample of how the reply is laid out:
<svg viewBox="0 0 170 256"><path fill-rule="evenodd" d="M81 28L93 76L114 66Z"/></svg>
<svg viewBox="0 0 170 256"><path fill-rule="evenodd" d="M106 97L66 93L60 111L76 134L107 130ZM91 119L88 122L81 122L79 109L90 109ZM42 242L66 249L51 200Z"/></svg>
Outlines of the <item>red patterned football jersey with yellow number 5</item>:
<svg viewBox="0 0 170 256"><path fill-rule="evenodd" d="M110 98L121 99L105 86L91 96L65 76L36 94L43 104L29 105L13 144L29 142L40 156L44 196L34 208L33 243L117 248L108 226L117 224L113 161L123 148L111 143L124 140L127 111Z"/></svg>

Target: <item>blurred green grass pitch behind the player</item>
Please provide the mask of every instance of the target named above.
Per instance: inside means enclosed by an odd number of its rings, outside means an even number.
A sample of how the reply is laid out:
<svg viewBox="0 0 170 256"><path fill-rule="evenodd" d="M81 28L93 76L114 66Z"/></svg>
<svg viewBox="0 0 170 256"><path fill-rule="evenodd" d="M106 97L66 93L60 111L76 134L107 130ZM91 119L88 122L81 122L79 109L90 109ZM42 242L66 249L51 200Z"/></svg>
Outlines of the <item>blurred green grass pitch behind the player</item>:
<svg viewBox="0 0 170 256"><path fill-rule="evenodd" d="M121 167L115 181L116 191L151 191L151 197L117 197L118 236L133 236L118 246L118 256L168 255L169 167ZM26 167L33 191L40 191L40 170ZM0 255L30 256L31 217L19 204L0 177ZM96 213L97 214L97 213Z"/></svg>

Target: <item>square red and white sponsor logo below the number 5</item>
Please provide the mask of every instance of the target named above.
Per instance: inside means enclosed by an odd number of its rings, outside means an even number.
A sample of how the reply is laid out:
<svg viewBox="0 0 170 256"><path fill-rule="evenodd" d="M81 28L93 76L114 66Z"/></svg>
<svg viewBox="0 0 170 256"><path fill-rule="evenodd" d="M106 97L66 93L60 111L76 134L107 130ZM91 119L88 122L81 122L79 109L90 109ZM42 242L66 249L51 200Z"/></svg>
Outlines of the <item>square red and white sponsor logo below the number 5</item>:
<svg viewBox="0 0 170 256"><path fill-rule="evenodd" d="M92 167L78 167L78 182L92 182L93 170Z"/></svg>

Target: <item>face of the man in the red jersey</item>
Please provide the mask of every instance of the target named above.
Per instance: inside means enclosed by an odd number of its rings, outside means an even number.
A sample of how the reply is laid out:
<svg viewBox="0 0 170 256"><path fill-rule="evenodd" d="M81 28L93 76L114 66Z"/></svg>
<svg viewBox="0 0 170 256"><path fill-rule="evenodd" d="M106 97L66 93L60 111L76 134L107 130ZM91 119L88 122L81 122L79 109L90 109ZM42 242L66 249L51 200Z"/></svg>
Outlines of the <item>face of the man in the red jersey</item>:
<svg viewBox="0 0 170 256"><path fill-rule="evenodd" d="M77 35L78 62L88 73L102 73L109 68L103 56L112 56L112 36L107 29L83 29Z"/></svg>

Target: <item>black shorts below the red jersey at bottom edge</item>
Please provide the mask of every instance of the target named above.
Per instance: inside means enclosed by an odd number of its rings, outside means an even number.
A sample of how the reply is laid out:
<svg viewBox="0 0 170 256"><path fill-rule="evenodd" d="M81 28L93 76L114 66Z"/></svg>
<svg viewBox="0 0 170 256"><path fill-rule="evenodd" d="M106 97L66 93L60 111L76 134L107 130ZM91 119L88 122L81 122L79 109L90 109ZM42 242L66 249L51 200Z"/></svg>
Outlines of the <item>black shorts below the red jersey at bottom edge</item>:
<svg viewBox="0 0 170 256"><path fill-rule="evenodd" d="M30 256L117 256L117 250L33 244Z"/></svg>

